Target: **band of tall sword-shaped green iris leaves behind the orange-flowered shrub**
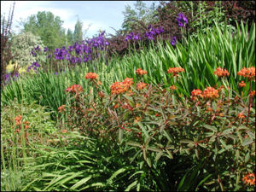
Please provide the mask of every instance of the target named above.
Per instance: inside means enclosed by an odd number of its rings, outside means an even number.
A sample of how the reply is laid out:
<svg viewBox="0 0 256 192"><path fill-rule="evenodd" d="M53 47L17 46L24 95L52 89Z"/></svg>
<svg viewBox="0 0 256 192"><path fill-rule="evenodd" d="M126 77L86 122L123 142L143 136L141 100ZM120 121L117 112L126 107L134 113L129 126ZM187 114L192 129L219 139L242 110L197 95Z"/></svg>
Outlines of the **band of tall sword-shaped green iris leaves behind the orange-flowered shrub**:
<svg viewBox="0 0 256 192"><path fill-rule="evenodd" d="M148 75L143 78L145 83L164 83L166 87L174 83L173 80L167 81L168 68L183 67L186 73L182 74L180 84L176 86L177 92L186 96L189 96L193 89L219 85L218 77L213 75L213 72L217 67L224 67L230 73L230 87L241 91L237 82L242 78L236 73L242 67L252 67L255 62L255 25L251 27L248 37L247 26L241 26L237 28L236 34L232 34L227 28L221 29L215 26L207 31L207 34L199 34L198 38L189 38L184 45L177 44L176 49L167 42L167 46L159 43L154 47L144 48L140 52L131 51L131 55L125 55L122 58L113 57L108 61L108 67L105 61L93 61L87 66L77 66L74 70L67 70L66 73L57 76L54 73L38 73L33 78L9 84L1 90L1 100L3 104L8 104L15 97L20 101L22 93L26 101L40 102L57 112L58 107L67 103L67 97L63 91L67 86L87 85L84 79L85 73L100 74L99 80L102 82L103 90L109 92L110 84L121 81L125 77L137 81L134 71L139 67L148 72ZM21 87L26 91L22 92ZM253 84L253 89L254 87ZM89 90L86 89L86 91ZM247 94L247 90L243 91Z"/></svg>

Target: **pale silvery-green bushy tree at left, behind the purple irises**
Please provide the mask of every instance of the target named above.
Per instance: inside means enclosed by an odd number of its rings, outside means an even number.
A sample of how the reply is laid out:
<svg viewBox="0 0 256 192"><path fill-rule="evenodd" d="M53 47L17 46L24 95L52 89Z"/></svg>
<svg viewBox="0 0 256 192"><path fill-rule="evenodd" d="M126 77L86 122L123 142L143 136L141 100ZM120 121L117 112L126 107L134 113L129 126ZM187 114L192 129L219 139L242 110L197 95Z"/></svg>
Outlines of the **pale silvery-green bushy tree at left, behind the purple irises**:
<svg viewBox="0 0 256 192"><path fill-rule="evenodd" d="M30 53L32 49L40 46L44 49L44 44L40 37L33 35L32 32L25 32L12 37L12 52L15 55L14 61L17 61L20 67L30 66L32 62L36 61L36 58ZM45 56L39 58L41 61L45 61Z"/></svg>

